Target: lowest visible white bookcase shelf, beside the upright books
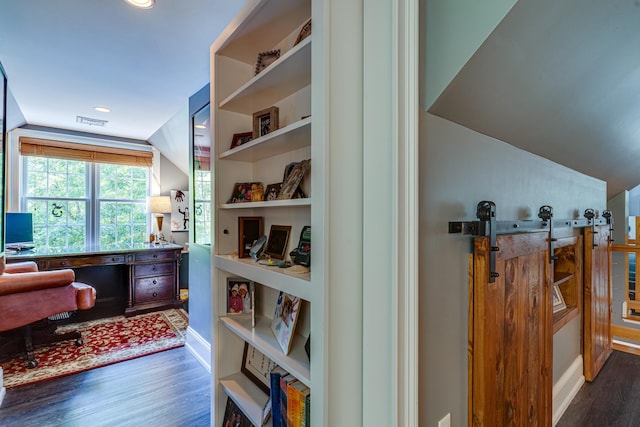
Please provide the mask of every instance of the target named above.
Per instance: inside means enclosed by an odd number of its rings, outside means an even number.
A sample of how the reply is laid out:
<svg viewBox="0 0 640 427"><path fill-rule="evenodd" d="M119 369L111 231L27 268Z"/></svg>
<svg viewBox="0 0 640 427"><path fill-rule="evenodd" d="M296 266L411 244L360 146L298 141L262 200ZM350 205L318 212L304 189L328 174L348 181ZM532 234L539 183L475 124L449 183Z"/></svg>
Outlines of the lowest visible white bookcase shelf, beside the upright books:
<svg viewBox="0 0 640 427"><path fill-rule="evenodd" d="M220 385L227 396L238 405L254 426L263 425L263 408L269 403L269 396L264 391L242 372L220 378ZM271 424L271 417L269 417L264 425L271 426Z"/></svg>

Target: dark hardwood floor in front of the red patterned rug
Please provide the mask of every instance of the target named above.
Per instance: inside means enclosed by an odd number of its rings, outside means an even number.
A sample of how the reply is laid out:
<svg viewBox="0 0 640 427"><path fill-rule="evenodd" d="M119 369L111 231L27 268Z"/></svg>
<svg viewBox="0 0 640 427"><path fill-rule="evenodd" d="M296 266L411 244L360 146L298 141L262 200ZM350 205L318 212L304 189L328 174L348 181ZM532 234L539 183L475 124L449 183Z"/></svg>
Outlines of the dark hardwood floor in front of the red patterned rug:
<svg viewBox="0 0 640 427"><path fill-rule="evenodd" d="M184 347L7 390L0 426L209 426L206 369Z"/></svg>

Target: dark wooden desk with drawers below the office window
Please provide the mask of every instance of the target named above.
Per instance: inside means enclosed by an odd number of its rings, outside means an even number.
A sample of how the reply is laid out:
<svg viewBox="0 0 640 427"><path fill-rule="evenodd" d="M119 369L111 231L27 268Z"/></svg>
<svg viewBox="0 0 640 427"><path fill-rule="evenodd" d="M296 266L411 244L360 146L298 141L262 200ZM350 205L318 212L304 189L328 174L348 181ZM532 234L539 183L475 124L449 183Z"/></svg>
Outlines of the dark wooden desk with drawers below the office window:
<svg viewBox="0 0 640 427"><path fill-rule="evenodd" d="M36 249L6 252L8 263L35 261L40 270L71 268L76 281L96 289L96 305L83 318L180 307L178 271L182 247L143 243L131 247ZM82 319L84 320L84 319Z"/></svg>

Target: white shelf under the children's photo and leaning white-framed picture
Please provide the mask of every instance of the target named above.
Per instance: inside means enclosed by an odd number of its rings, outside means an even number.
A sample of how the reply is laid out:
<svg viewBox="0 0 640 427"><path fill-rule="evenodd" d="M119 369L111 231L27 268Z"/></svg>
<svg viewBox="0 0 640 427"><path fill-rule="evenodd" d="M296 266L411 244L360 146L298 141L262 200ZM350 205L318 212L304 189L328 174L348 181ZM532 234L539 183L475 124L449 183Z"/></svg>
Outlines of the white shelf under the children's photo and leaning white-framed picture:
<svg viewBox="0 0 640 427"><path fill-rule="evenodd" d="M250 342L265 356L302 381L304 385L311 387L310 363L304 350L305 337L295 335L291 343L291 351L285 355L273 335L271 319L268 317L256 316L255 328L251 327L250 316L222 316L220 322L231 332ZM260 392L264 394L261 390Z"/></svg>

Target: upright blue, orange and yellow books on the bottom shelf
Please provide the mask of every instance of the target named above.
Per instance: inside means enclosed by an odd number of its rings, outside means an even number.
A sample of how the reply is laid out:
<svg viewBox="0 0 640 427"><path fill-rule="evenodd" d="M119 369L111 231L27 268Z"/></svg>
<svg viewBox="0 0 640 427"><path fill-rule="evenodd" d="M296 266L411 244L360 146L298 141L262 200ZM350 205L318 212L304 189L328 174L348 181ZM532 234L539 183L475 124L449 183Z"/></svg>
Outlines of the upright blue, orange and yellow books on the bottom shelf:
<svg viewBox="0 0 640 427"><path fill-rule="evenodd" d="M311 389L277 366L271 371L273 427L309 427Z"/></svg>

